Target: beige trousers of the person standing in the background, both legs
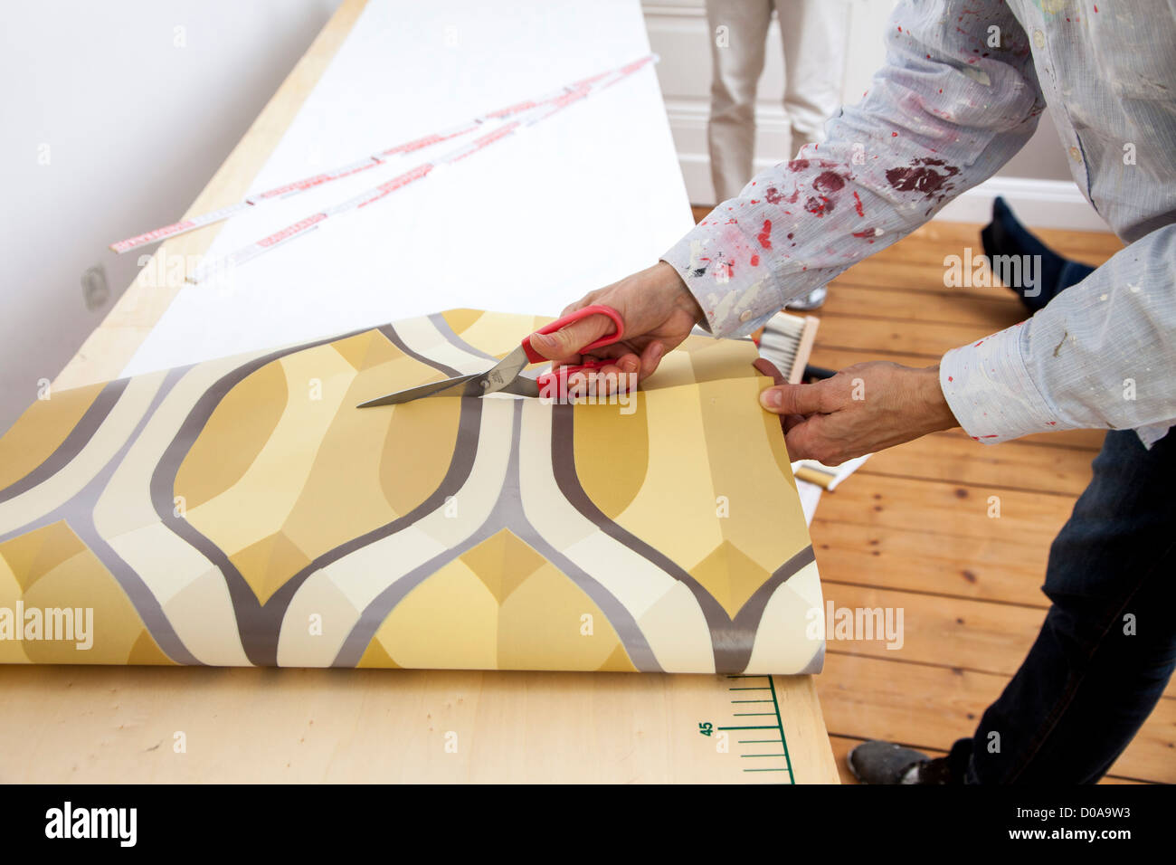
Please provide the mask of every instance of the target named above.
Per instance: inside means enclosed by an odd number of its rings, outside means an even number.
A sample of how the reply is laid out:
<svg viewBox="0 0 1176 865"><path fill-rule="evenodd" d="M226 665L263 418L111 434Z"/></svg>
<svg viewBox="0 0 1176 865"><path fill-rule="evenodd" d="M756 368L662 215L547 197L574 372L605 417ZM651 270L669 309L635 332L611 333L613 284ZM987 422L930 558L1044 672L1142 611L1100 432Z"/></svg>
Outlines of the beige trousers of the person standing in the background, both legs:
<svg viewBox="0 0 1176 865"><path fill-rule="evenodd" d="M787 158L823 139L824 121L841 105L849 5L844 0L707 0L710 22L710 177L716 201L735 198L751 179L755 88L763 72L771 11L784 48L784 113L791 132Z"/></svg>

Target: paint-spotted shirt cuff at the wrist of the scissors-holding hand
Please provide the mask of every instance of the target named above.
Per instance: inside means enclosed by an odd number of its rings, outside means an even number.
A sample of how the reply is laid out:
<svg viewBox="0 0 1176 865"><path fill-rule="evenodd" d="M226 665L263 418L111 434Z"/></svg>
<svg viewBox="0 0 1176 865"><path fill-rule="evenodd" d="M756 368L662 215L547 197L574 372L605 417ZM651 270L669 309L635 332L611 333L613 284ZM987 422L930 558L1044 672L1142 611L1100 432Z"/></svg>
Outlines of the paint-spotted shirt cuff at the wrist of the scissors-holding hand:
<svg viewBox="0 0 1176 865"><path fill-rule="evenodd" d="M767 260L736 264L717 246L716 238L691 231L661 260L677 271L699 301L706 330L715 337L746 337L780 312L788 299L776 287Z"/></svg>

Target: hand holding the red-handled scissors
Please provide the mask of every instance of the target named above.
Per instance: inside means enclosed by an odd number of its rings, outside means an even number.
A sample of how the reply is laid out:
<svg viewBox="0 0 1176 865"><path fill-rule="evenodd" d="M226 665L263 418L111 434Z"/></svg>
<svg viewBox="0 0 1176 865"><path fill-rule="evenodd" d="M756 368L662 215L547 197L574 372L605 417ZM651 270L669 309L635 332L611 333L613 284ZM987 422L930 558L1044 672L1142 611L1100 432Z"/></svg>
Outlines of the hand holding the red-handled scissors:
<svg viewBox="0 0 1176 865"><path fill-rule="evenodd" d="M687 290L677 271L664 261L626 277L620 282L589 292L569 305L561 315L592 304L606 304L621 313L624 339L594 348L592 357L612 362L596 370L595 377L615 382L622 373L647 378L657 368L666 352L681 345L702 320L702 308ZM604 315L590 315L547 335L535 334L530 344L553 361L553 367L582 362L580 348L609 333L613 322Z"/></svg>

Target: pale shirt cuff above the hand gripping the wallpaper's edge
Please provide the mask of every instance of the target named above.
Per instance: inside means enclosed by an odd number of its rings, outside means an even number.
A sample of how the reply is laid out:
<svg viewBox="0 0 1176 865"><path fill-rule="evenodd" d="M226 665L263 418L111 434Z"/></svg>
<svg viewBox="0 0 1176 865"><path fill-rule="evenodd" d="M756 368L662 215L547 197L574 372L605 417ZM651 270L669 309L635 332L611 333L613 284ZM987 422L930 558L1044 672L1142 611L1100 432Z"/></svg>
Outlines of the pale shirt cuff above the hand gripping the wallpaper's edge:
<svg viewBox="0 0 1176 865"><path fill-rule="evenodd" d="M1069 428L1037 390L1021 355L1022 325L962 348L940 361L940 387L960 426L995 445L1021 435Z"/></svg>

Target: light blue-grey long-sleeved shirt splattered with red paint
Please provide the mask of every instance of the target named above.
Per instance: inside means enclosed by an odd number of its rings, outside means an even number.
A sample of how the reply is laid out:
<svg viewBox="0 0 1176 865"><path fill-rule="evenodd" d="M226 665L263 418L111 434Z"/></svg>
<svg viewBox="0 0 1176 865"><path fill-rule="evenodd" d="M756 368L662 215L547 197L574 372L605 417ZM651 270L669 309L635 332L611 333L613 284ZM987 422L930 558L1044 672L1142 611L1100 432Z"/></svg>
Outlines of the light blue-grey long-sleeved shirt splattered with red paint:
<svg viewBox="0 0 1176 865"><path fill-rule="evenodd" d="M1028 321L949 351L940 384L978 441L1101 427L1150 446L1176 424L1174 19L1163 0L907 0L827 141L663 259L713 333L749 333L989 178L1048 102L1075 181L1129 246Z"/></svg>

